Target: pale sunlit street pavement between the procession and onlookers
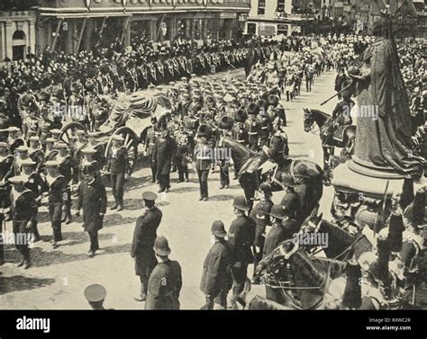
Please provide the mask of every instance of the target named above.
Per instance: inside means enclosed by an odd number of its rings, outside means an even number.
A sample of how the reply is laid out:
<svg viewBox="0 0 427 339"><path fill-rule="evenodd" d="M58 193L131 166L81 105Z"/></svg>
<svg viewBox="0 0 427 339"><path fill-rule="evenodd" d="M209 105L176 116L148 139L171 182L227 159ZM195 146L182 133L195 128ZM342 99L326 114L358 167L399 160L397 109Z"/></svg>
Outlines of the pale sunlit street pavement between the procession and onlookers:
<svg viewBox="0 0 427 339"><path fill-rule="evenodd" d="M337 103L320 106L334 94L335 72L324 73L316 78L313 91L302 94L292 103L282 101L286 109L290 155L308 158L322 165L322 147L317 134L305 133L303 108L316 108L332 112ZM104 228L99 232L101 250L95 258L88 258L89 238L82 228L82 219L74 218L69 225L63 225L64 241L57 249L50 247L51 228L46 207L39 212L39 228L42 241L32 248L33 266L29 270L16 267L20 257L13 245L5 245L7 262L0 266L0 308L3 309L87 309L83 291L91 283L103 284L107 290L106 308L143 309L144 303L132 297L140 291L139 278L134 274L131 258L132 234L136 219L142 213L141 194L158 191L150 183L150 168L146 158L141 158L137 171L125 188L124 210L107 210ZM218 172L209 174L209 201L198 201L197 175L190 174L190 183L177 183L177 174L171 175L172 188L159 196L158 206L163 212L158 235L168 237L172 249L171 259L182 266L183 289L180 295L182 309L197 309L204 305L204 295L199 290L204 256L211 247L210 228L214 220L223 220L226 228L232 219L232 199L242 194L237 181L232 181L228 190L219 189ZM109 207L113 205L112 195L107 189ZM321 210L323 218L328 216L333 190L324 190ZM273 201L279 202L282 192L276 192ZM6 224L12 231L12 224ZM253 268L250 265L250 274ZM252 286L248 296L264 296L262 286Z"/></svg>

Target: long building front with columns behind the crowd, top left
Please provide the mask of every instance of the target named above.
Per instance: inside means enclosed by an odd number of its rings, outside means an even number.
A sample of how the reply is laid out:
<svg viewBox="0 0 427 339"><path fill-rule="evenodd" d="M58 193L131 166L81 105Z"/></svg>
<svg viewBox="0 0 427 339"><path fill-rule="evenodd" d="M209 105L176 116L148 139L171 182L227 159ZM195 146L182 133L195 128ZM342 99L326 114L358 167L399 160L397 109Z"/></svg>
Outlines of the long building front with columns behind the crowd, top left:
<svg viewBox="0 0 427 339"><path fill-rule="evenodd" d="M77 53L94 37L129 44L146 32L153 41L235 38L250 0L41 0L38 50L47 46ZM99 39L99 38L96 38Z"/></svg>

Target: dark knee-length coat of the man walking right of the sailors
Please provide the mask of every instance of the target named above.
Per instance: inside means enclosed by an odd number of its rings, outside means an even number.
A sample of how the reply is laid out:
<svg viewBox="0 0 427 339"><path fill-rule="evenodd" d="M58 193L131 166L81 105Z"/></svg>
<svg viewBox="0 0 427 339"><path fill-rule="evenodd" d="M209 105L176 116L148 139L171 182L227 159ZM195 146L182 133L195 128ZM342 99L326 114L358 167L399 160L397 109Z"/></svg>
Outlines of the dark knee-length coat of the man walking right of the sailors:
<svg viewBox="0 0 427 339"><path fill-rule="evenodd" d="M92 182L84 180L78 189L77 210L83 208L83 224L86 232L99 230L103 227L107 198L104 184L99 178Z"/></svg>

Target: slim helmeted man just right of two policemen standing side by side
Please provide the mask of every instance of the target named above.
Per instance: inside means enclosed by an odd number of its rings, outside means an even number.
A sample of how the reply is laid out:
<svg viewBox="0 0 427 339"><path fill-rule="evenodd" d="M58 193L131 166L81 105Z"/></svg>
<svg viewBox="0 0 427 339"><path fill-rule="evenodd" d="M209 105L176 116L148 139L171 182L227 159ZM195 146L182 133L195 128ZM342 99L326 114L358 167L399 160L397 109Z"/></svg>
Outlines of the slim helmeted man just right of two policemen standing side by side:
<svg viewBox="0 0 427 339"><path fill-rule="evenodd" d="M254 254L254 262L253 262L253 278L252 283L254 285L259 285L259 276L256 274L256 268L261 261L262 253L264 251L264 242L265 242L265 232L266 227L270 225L269 213L271 207L273 206L273 201L271 201L271 197L273 196L273 192L271 191L271 187L268 183L261 183L259 185L259 198L260 201L250 213L250 217L255 220L257 224L256 232L255 232L255 241L253 243L252 251Z"/></svg>

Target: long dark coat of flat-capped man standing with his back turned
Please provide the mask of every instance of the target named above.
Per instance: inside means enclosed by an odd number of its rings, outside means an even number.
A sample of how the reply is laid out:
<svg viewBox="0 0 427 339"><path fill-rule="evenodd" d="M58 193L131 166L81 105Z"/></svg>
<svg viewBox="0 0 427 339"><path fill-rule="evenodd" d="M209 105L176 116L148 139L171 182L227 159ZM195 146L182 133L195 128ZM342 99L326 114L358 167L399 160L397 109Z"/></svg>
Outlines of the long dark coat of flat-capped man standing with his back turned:
<svg viewBox="0 0 427 339"><path fill-rule="evenodd" d="M133 232L131 256L135 258L136 275L144 275L157 264L153 246L162 213L157 207L147 210L136 220Z"/></svg>

